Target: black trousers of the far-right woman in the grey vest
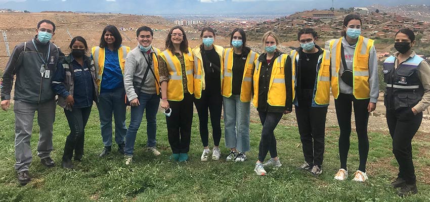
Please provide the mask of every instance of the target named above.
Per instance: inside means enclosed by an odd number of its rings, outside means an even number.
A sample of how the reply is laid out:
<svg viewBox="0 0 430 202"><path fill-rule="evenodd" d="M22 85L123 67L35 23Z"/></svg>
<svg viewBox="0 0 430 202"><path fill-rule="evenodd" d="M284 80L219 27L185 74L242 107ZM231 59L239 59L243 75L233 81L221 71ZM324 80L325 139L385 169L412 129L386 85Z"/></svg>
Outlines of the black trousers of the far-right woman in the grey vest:
<svg viewBox="0 0 430 202"><path fill-rule="evenodd" d="M393 154L399 163L398 177L407 184L415 184L415 168L412 162L412 138L422 121L422 112L414 115L411 108L386 110L386 122L393 138Z"/></svg>

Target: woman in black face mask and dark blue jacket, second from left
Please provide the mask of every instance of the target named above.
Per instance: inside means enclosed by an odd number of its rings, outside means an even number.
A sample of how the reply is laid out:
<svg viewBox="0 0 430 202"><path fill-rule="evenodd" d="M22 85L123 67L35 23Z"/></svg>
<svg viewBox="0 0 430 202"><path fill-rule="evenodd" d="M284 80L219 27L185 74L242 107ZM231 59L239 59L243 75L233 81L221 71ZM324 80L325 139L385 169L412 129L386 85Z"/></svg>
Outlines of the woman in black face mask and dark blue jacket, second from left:
<svg viewBox="0 0 430 202"><path fill-rule="evenodd" d="M93 60L86 56L87 41L76 36L70 42L71 53L58 63L52 89L58 95L57 104L64 108L70 126L64 146L63 168L73 168L74 160L83 156L84 128L90 117L93 101L97 103L96 69Z"/></svg>

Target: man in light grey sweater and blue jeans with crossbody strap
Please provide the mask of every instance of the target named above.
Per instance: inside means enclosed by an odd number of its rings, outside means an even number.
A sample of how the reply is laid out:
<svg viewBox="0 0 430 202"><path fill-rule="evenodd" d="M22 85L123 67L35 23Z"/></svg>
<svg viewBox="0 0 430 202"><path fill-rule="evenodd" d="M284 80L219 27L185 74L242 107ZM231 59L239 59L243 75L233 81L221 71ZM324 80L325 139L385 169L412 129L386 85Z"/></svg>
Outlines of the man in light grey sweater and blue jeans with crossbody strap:
<svg viewBox="0 0 430 202"><path fill-rule="evenodd" d="M132 163L136 134L146 111L147 151L159 156L156 149L156 115L160 104L158 60L160 50L151 45L153 31L147 26L136 31L139 44L127 54L124 68L124 87L131 105L131 119L125 135L125 164Z"/></svg>

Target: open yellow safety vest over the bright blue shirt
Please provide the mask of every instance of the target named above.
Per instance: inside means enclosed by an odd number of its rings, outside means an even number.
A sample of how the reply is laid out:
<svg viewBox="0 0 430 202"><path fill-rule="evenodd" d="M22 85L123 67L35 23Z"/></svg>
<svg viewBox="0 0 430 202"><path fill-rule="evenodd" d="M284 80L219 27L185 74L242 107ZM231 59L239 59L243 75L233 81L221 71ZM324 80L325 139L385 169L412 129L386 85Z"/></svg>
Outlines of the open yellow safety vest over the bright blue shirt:
<svg viewBox="0 0 430 202"><path fill-rule="evenodd" d="M91 48L91 54L93 54L94 66L96 67L96 83L100 92L100 86L102 83L103 70L105 67L105 48L101 48L99 46ZM130 47L122 45L118 48L118 61L119 67L121 68L122 75L124 75L124 65L125 58L127 57L128 52L130 52Z"/></svg>

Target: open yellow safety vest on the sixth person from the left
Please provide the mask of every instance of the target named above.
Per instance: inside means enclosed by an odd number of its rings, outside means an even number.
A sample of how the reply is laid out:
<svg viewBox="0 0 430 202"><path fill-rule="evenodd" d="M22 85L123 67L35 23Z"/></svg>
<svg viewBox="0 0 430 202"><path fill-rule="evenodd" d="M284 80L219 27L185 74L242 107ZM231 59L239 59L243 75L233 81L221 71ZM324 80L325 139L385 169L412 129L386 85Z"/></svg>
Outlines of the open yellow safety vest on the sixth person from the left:
<svg viewBox="0 0 430 202"><path fill-rule="evenodd" d="M218 56L220 56L220 64L221 64L221 78L223 77L223 55L224 55L224 48L220 45L213 44L213 48L215 48L215 51L217 52ZM204 80L204 68L203 68L203 60L201 57L200 52L200 45L196 46L193 49L193 56L194 56L194 97L197 99L200 99L201 97L201 91L206 89L206 83ZM220 80L221 86L223 85L222 79Z"/></svg>

